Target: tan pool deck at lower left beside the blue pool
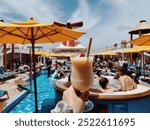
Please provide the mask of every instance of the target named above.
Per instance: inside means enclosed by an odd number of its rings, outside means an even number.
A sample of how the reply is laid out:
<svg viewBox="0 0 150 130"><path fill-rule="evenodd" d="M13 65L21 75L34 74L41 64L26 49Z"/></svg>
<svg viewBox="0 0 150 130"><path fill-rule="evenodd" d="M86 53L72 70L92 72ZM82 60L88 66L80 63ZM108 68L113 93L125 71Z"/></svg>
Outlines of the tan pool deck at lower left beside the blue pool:
<svg viewBox="0 0 150 130"><path fill-rule="evenodd" d="M10 80L6 80L0 85L0 90L6 90L9 94L9 99L7 99L6 96L0 98L0 112L10 100L12 100L16 95L20 93L20 91L17 90L17 84L14 81L18 79L28 78L29 76L27 74L18 74L17 77L12 78Z"/></svg>

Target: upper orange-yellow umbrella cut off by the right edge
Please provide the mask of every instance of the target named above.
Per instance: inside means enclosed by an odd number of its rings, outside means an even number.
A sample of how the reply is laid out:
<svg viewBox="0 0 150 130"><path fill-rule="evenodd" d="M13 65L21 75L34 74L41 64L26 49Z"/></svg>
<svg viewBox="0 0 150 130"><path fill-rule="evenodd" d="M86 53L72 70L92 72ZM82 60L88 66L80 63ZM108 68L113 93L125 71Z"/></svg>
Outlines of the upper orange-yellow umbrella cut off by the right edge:
<svg viewBox="0 0 150 130"><path fill-rule="evenodd" d="M150 46L150 35L143 35L139 38L129 41L128 43L135 44L137 46Z"/></svg>

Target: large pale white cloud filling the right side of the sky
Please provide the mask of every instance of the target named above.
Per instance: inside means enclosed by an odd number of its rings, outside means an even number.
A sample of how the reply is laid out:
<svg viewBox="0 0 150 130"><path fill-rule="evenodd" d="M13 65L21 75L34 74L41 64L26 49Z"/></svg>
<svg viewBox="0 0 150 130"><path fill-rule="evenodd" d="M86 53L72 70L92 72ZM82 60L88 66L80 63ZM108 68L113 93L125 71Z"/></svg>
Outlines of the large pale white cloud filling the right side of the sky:
<svg viewBox="0 0 150 130"><path fill-rule="evenodd" d="M101 1L99 1L101 2ZM88 34L93 36L93 48L102 48L113 45L116 42L127 39L130 40L128 32L141 19L147 19L150 22L149 0L106 0L111 8L111 13L107 17L103 17L103 22L99 22L88 31ZM98 8L95 8L98 10ZM99 17L103 10L99 9ZM82 39L83 44L87 44L88 40Z"/></svg>

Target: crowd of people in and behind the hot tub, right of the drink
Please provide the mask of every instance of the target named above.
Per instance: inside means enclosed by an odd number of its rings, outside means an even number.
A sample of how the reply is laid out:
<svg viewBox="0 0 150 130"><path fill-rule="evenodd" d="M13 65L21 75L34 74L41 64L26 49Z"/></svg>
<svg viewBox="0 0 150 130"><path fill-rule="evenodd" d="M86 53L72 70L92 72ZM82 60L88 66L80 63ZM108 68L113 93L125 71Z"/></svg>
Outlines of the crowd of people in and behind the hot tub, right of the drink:
<svg viewBox="0 0 150 130"><path fill-rule="evenodd" d="M139 83L138 79L141 74L139 74L138 69L131 69L126 58L122 60L97 60L94 63L94 70L99 84L102 89L98 90L101 92L113 92L113 91L129 91L136 88L136 84ZM118 79L120 87L113 88L108 86L109 80L102 75L114 76L114 79Z"/></svg>

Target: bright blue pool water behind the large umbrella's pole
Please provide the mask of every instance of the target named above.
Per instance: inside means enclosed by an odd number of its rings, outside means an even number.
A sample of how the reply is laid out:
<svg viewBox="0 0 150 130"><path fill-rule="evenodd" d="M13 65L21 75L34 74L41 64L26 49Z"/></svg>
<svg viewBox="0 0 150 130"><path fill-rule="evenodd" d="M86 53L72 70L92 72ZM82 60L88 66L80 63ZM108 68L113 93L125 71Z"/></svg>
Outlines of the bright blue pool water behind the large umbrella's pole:
<svg viewBox="0 0 150 130"><path fill-rule="evenodd" d="M27 86L29 88L29 86ZM27 95L10 113L33 113L34 109L34 90ZM47 75L41 74L37 77L37 95L38 109L41 109L41 104L46 98L55 98L55 91L52 81Z"/></svg>

